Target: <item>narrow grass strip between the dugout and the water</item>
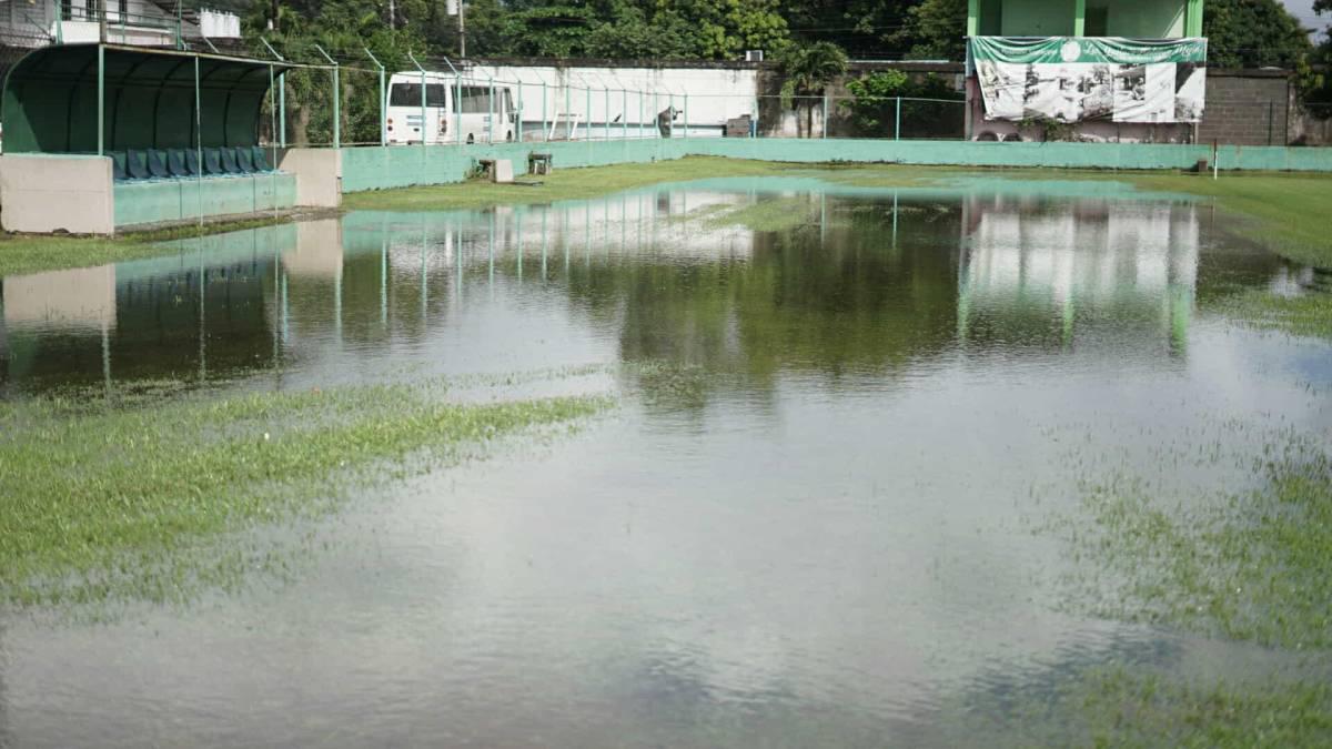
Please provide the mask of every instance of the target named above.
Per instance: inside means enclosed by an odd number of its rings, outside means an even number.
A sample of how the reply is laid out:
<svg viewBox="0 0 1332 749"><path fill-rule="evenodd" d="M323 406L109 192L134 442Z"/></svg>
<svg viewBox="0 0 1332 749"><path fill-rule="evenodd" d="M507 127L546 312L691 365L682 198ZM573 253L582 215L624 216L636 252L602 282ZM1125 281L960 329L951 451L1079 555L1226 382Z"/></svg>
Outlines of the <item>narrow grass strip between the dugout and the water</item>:
<svg viewBox="0 0 1332 749"><path fill-rule="evenodd" d="M242 221L210 221L202 227L189 224L147 232L128 232L116 237L0 233L0 276L159 257L169 251L164 251L155 243L257 229L292 220L294 220L292 216L280 216Z"/></svg>

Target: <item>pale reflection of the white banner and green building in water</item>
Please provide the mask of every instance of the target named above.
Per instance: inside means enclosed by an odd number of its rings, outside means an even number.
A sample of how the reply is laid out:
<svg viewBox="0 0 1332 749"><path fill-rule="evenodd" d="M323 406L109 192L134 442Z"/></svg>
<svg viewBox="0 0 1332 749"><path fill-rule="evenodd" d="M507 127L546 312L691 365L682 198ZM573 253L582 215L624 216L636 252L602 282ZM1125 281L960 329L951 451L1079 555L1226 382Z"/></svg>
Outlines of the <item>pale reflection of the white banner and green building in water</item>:
<svg viewBox="0 0 1332 749"><path fill-rule="evenodd" d="M1067 345L1108 324L1183 349L1197 276L1192 204L972 196L963 208L964 340Z"/></svg>

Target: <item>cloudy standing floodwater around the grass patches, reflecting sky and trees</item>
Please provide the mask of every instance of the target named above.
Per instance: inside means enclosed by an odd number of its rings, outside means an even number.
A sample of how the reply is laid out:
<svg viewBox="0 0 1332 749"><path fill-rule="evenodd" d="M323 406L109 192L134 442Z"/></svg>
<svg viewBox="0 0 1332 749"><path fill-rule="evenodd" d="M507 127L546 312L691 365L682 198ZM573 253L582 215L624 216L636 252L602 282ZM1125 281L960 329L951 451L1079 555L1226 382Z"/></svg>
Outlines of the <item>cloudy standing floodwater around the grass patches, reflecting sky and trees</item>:
<svg viewBox="0 0 1332 749"><path fill-rule="evenodd" d="M1104 183L807 179L4 279L3 397L466 376L621 408L369 492L294 580L0 614L0 745L986 745L968 721L1087 665L1283 668L1062 605L1034 526L1099 468L1233 485L1160 456L1332 425L1328 347L1216 305L1317 281Z"/></svg>

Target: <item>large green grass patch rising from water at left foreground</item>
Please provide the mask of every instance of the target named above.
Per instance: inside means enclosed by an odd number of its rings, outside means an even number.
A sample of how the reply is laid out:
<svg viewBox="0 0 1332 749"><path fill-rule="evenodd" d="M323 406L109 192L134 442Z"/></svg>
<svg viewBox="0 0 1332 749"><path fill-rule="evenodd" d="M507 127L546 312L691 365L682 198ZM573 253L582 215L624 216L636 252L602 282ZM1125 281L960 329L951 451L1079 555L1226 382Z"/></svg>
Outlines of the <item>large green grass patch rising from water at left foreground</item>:
<svg viewBox="0 0 1332 749"><path fill-rule="evenodd" d="M317 517L385 466L454 460L610 405L456 405L440 389L0 402L0 604L170 601L233 586L273 560L237 530Z"/></svg>

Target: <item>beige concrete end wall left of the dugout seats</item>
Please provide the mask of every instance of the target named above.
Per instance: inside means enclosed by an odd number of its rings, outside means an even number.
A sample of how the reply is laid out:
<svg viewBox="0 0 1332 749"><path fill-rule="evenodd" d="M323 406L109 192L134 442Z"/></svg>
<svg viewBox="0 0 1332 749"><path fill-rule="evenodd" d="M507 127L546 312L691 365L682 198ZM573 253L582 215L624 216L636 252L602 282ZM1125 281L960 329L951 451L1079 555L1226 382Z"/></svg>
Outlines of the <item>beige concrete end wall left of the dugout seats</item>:
<svg viewBox="0 0 1332 749"><path fill-rule="evenodd" d="M0 224L8 232L109 235L113 205L105 156L0 156Z"/></svg>

